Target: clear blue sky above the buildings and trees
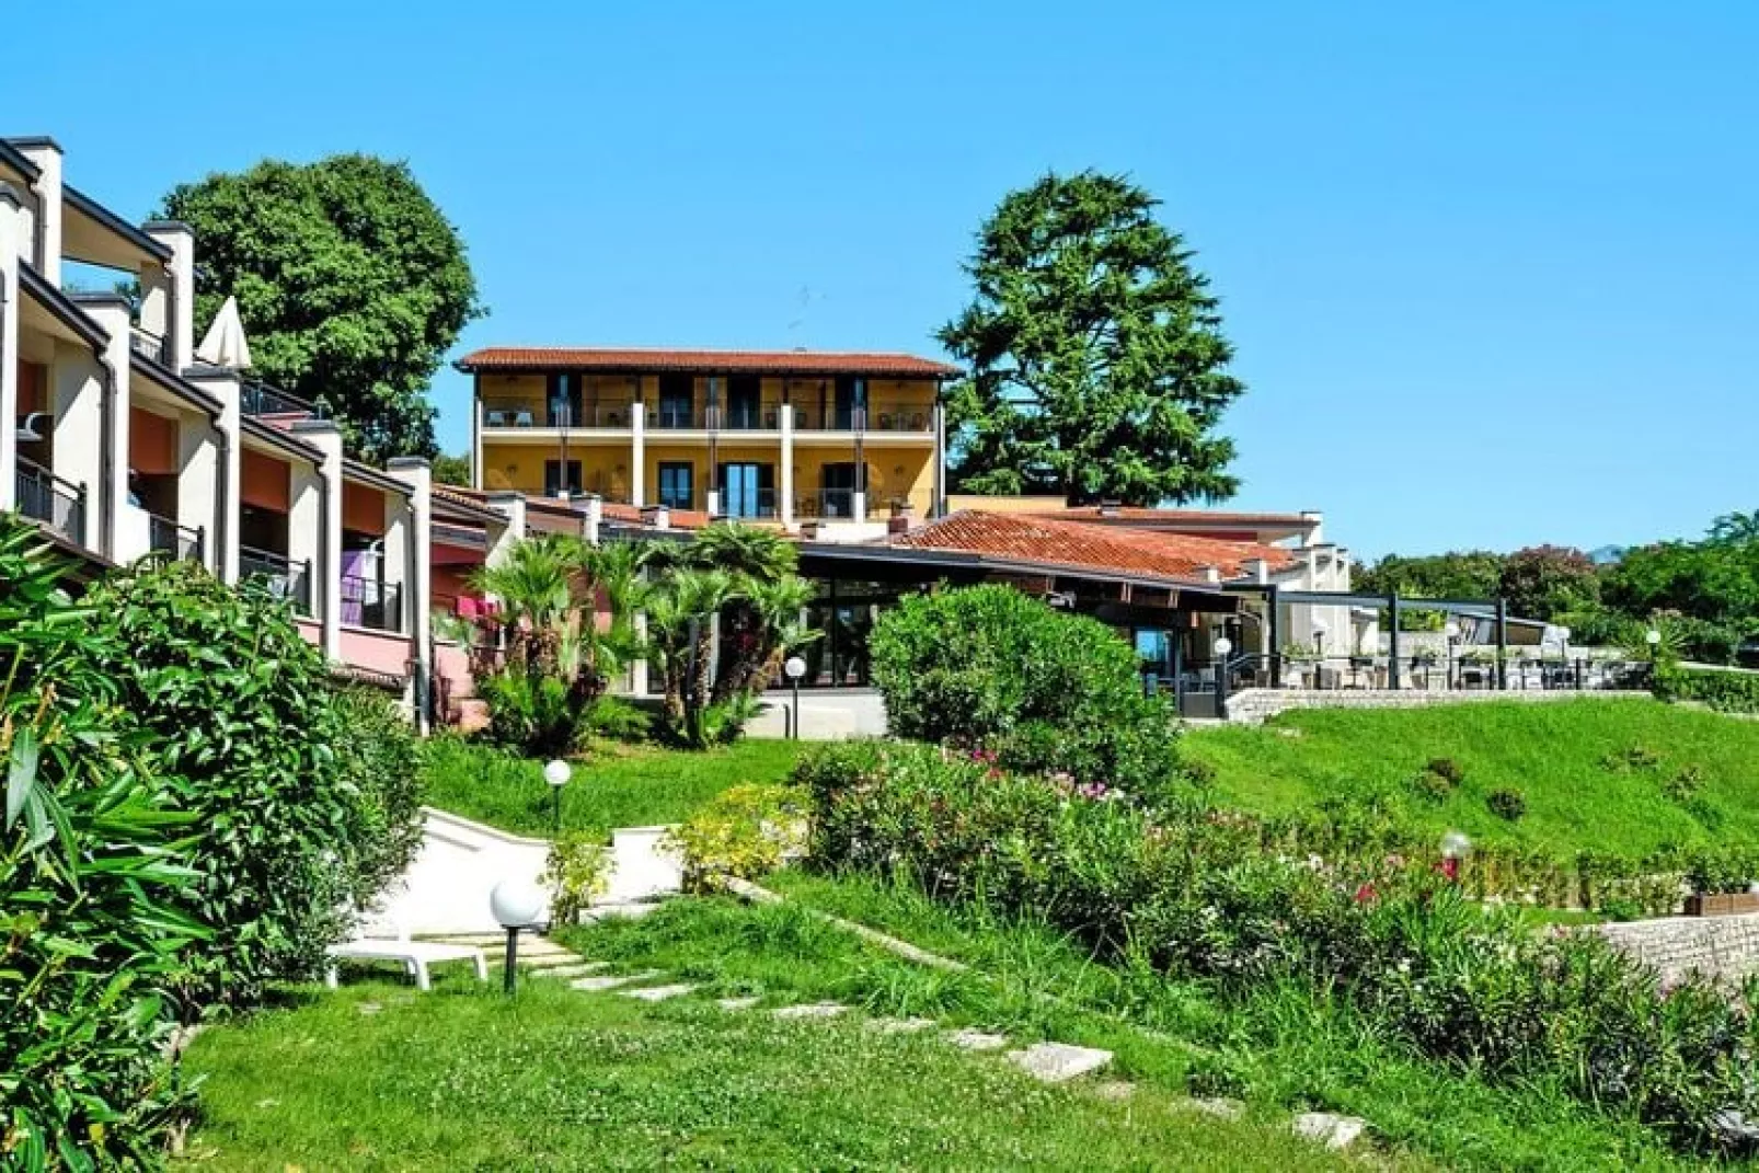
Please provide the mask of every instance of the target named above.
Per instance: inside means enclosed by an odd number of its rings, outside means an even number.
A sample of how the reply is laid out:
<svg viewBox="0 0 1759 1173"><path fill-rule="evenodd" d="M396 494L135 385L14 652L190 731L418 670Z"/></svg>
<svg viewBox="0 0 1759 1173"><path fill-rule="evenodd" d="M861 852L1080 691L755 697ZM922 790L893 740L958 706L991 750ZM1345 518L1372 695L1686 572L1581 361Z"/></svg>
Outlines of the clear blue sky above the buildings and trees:
<svg viewBox="0 0 1759 1173"><path fill-rule="evenodd" d="M406 158L493 311L459 352L938 353L996 200L1098 167L1223 299L1233 505L1363 556L1759 506L1754 5L97 7L11 14L0 132L128 216ZM463 450L464 378L434 397Z"/></svg>

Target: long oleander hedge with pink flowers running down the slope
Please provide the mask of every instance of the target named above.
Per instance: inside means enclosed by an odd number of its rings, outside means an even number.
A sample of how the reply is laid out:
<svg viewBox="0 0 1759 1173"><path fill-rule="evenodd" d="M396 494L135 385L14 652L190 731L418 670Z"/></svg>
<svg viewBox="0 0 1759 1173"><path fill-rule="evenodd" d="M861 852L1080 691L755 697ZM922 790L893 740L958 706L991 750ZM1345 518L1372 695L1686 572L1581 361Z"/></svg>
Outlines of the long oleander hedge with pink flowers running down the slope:
<svg viewBox="0 0 1759 1173"><path fill-rule="evenodd" d="M1544 1080L1675 1143L1759 1140L1747 994L1655 973L1592 932L1537 934L1432 860L1296 856L1226 811L1163 809L934 746L821 749L813 858L1025 913L1110 962L1245 994L1300 981L1499 1080Z"/></svg>

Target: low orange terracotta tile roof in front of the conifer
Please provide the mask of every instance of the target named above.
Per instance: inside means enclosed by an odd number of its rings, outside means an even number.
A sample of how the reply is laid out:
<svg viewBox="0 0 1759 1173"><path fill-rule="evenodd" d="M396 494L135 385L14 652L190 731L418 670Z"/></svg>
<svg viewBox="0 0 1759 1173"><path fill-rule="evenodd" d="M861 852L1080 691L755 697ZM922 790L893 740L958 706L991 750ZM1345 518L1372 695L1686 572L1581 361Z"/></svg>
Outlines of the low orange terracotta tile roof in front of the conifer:
<svg viewBox="0 0 1759 1173"><path fill-rule="evenodd" d="M1131 575L1201 580L1205 566L1221 577L1238 579L1244 565L1256 557L1272 570L1295 561L1289 550L1256 542L1223 542L1191 535L1089 526L1078 521L1029 517L1022 514L985 514L962 510L920 529L892 538L894 545L916 550L964 550L992 557L1115 570Z"/></svg>

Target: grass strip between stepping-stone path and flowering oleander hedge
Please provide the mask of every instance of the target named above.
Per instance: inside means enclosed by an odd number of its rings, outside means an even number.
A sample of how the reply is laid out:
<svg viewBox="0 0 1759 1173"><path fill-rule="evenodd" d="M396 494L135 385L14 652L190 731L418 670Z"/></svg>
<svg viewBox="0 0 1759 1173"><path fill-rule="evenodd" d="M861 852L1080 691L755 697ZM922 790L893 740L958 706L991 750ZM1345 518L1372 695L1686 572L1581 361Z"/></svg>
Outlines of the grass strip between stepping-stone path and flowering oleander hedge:
<svg viewBox="0 0 1759 1173"><path fill-rule="evenodd" d="M1106 1046L1135 1082L1163 1092L1237 1094L1254 1117L1303 1108L1356 1113L1393 1147L1398 1166L1696 1168L1646 1129L1597 1115L1543 1082L1495 1087L1463 1067L1416 1057L1307 990L1272 988L1228 1004L1203 983L1096 965L1041 925L946 907L911 886L792 871L765 883L976 973L941 974L874 957L837 930L790 923L800 920L793 909L732 913L704 902L584 930L588 948L630 965L667 964L728 990L830 995L876 1011ZM793 964L774 960L788 955Z"/></svg>

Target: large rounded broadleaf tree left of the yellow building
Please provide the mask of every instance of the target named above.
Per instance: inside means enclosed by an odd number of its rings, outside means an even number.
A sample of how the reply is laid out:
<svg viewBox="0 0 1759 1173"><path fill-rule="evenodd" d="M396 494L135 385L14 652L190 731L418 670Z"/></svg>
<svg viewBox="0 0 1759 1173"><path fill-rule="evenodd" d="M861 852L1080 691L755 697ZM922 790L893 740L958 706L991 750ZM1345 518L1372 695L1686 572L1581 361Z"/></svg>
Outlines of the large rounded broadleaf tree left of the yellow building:
<svg viewBox="0 0 1759 1173"><path fill-rule="evenodd" d="M195 229L197 320L237 297L257 376L324 404L362 459L434 455L427 382L482 308L406 164L264 160L179 185L162 211Z"/></svg>

